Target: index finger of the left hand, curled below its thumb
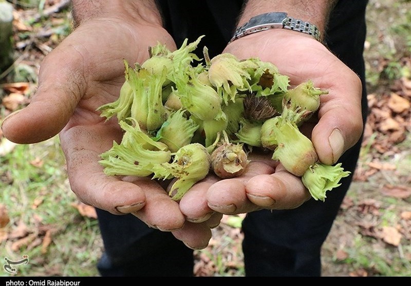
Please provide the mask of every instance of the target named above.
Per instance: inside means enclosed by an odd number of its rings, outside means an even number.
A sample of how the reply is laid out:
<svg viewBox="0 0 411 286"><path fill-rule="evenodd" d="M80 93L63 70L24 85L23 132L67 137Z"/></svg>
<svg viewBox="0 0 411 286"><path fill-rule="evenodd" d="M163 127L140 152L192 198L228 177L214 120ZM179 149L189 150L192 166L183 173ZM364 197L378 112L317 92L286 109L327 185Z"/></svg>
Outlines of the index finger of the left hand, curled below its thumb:
<svg viewBox="0 0 411 286"><path fill-rule="evenodd" d="M73 192L84 203L113 214L137 211L145 204L143 190L135 184L106 176L98 162L119 130L103 125L77 126L60 135L66 156L67 174Z"/></svg>

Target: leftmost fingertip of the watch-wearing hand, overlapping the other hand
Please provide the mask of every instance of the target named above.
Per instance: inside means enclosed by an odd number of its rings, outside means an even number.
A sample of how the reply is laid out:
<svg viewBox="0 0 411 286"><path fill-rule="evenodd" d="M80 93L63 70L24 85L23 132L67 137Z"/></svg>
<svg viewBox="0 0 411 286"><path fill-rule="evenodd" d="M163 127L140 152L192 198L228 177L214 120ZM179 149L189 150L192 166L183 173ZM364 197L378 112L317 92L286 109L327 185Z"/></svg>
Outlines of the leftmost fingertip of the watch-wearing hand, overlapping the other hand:
<svg viewBox="0 0 411 286"><path fill-rule="evenodd" d="M186 220L200 223L210 219L214 214L213 209L208 206L207 191L218 179L208 176L206 179L194 184L180 200L180 210Z"/></svg>

